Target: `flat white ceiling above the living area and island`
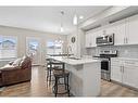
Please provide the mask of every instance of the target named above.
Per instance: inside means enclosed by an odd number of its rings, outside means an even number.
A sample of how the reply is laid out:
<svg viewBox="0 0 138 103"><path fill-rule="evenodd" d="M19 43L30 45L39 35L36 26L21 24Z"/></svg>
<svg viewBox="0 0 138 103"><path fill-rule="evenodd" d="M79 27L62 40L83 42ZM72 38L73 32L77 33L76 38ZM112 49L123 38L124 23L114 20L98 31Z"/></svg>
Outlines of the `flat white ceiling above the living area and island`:
<svg viewBox="0 0 138 103"><path fill-rule="evenodd" d="M73 25L74 14L84 18L95 16L110 7L0 7L0 25L68 35L76 27ZM64 31L60 31L61 11L64 11L62 23Z"/></svg>

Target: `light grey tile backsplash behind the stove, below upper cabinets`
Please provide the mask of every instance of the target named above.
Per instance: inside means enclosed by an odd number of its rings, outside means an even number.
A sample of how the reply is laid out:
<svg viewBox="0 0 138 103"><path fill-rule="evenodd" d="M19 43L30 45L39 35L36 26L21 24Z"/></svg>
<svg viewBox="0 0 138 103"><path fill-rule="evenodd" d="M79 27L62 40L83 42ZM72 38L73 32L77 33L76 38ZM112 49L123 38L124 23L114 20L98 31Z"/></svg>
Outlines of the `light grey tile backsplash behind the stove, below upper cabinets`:
<svg viewBox="0 0 138 103"><path fill-rule="evenodd" d="M135 46L105 46L86 50L88 55L99 55L102 50L117 50L120 57L138 59L138 44Z"/></svg>

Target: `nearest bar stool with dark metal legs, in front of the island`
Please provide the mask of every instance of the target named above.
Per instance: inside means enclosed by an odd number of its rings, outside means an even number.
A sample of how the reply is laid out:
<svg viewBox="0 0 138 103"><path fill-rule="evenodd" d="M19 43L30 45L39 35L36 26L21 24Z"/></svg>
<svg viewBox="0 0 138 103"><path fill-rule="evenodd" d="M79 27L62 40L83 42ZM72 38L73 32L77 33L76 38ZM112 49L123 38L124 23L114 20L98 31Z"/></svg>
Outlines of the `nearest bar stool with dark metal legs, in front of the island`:
<svg viewBox="0 0 138 103"><path fill-rule="evenodd" d="M65 94L67 93L70 96L70 85L68 85L68 70L53 70L53 76L55 78L55 82L53 86L53 93L57 96L58 94ZM64 82L60 82L60 79L63 78ZM59 86L64 86L64 92L59 92Z"/></svg>

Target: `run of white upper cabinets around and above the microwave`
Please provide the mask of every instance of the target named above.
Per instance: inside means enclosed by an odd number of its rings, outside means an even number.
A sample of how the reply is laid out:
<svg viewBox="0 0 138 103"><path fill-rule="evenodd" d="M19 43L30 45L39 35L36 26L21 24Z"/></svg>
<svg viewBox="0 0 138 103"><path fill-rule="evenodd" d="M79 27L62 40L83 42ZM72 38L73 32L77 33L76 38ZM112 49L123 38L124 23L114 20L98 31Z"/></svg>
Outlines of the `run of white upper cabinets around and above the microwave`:
<svg viewBox="0 0 138 103"><path fill-rule="evenodd" d="M96 38L103 34L114 34L114 46L138 44L138 15L112 23L101 30L86 35L86 47L96 47ZM89 44L89 46L88 46Z"/></svg>

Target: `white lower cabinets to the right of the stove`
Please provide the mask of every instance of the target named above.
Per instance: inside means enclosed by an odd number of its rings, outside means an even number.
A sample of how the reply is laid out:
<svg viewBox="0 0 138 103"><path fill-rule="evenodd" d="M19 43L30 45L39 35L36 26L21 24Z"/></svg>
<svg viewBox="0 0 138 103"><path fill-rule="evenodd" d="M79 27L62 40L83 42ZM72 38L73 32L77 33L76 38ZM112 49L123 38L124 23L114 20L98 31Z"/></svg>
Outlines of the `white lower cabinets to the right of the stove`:
<svg viewBox="0 0 138 103"><path fill-rule="evenodd" d="M115 64L115 65L114 65ZM111 79L138 88L138 61L111 60Z"/></svg>

